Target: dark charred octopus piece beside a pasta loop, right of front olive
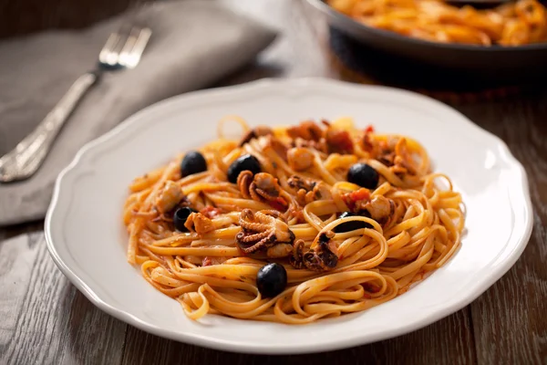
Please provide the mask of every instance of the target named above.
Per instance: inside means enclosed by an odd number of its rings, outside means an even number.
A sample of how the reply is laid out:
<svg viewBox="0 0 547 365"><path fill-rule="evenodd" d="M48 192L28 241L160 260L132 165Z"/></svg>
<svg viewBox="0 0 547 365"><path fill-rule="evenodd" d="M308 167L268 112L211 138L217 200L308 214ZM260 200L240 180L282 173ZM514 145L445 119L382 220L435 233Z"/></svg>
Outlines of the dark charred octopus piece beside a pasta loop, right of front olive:
<svg viewBox="0 0 547 365"><path fill-rule="evenodd" d="M304 241L296 241L293 255L289 259L290 264L295 268L305 267L312 271L326 271L334 268L338 264L336 245L332 241L334 236L335 233L332 231L320 233L305 252Z"/></svg>

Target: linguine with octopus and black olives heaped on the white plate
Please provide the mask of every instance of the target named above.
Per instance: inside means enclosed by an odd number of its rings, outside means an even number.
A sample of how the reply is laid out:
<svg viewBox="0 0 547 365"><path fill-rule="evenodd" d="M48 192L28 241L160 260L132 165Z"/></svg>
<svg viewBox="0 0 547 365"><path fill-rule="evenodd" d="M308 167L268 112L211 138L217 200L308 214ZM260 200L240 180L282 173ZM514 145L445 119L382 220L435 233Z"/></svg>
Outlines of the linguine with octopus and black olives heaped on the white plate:
<svg viewBox="0 0 547 365"><path fill-rule="evenodd" d="M405 293L460 245L461 196L411 138L241 123L129 186L128 261L189 318L304 324ZM444 185L444 188L439 186Z"/></svg>

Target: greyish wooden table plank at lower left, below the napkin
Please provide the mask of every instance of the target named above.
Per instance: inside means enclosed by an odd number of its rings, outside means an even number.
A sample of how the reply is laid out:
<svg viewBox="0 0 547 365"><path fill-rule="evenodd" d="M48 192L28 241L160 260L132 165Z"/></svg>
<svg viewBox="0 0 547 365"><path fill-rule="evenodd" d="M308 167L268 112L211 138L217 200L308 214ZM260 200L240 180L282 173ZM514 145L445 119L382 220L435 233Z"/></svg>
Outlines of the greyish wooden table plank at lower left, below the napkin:
<svg viewBox="0 0 547 365"><path fill-rule="evenodd" d="M41 232L0 244L0 363L119 363L126 324L61 274Z"/></svg>

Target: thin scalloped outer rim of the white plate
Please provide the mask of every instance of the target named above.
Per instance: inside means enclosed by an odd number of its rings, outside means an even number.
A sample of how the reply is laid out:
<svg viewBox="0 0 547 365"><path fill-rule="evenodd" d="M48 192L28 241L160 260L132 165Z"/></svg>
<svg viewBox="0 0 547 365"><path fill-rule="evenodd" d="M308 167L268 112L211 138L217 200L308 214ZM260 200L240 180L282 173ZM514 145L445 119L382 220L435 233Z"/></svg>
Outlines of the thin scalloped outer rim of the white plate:
<svg viewBox="0 0 547 365"><path fill-rule="evenodd" d="M209 336L196 336L194 334L188 334L184 332L175 333L175 332L171 332L169 330L160 328L150 322L144 321L138 318L137 316L129 313L129 311L126 310L127 308L126 309L117 308L114 305L108 303L108 299L99 297L99 295L95 293L93 289L85 283L84 279L79 277L74 272L73 268L68 266L63 261L61 255L59 255L59 253L57 252L56 244L53 242L53 238L52 238L52 216L57 208L58 201L61 196L61 185L63 183L63 180L67 176L67 174L77 168L78 162L80 162L82 157L86 155L88 151L92 151L94 147L101 145L103 142L108 141L109 139L113 138L119 133L122 133L124 130L130 129L131 126L133 126L133 124L135 124L141 118L141 115L150 112L150 110L155 110L158 108L161 109L167 104L170 104L172 102L177 102L178 99L186 99L189 97L202 97L203 95L207 95L207 94L222 94L233 89L240 89L240 90L247 89L250 92L253 89L268 88L268 87L272 87L272 86L280 85L280 84L284 85L288 89L290 89L291 86L294 86L294 84L298 84L307 88L312 88L317 86L328 87L328 86L335 85L335 87L343 87L347 89L352 89L352 88L353 89L385 89L392 92L412 95L414 97L418 96L419 98L428 99L428 101L436 103L438 106L444 108L445 110L451 113L459 114L459 117L462 122L466 121L470 125L470 127L473 127L477 132L481 133L484 137L488 137L491 141L495 141L496 145L499 147L500 151L498 151L498 153L500 154L500 156L506 158L507 162L511 165L511 169L519 173L520 175L520 179L518 180L520 182L521 189L518 189L517 192L513 192L513 194L518 193L519 195L522 195L519 198L519 201L522 202L522 205L524 208L524 211L523 211L523 214L524 214L523 224L525 224L523 227L524 232L522 233L520 237L517 237L514 239L511 238L509 240L509 242L516 240L514 245L506 245L506 247L504 247L500 251L500 254L501 254L506 252L509 248L511 248L511 254L508 255L505 259L501 260L501 264L496 266L496 268L492 270L489 276L486 276L486 278L482 279L480 287L478 287L474 292L472 292L472 294L466 297L462 297L462 298L450 301L449 305L444 306L443 308L435 312L433 315L428 316L426 320L410 323L409 325L404 326L403 329L397 328L397 330L385 331L381 335L375 336L375 339L371 339L371 340L366 340L366 339L361 339L361 337L356 337L355 339L352 339L351 341L346 341L344 343L331 341L328 345L325 345L325 346L322 345L321 351L333 350L333 349L344 349L344 348L354 347L358 345L363 345L366 343L376 342L378 340L389 339L395 336L403 335L408 332L414 331L418 328L424 328L428 326L429 324L436 322L441 318L445 318L449 316L450 314L456 312L460 308L464 308L465 306L470 304L471 301L475 300L477 297L483 294L489 287L491 287L496 281L498 281L501 278L501 276L503 276L507 271L509 271L511 266L513 266L514 263L517 261L517 259L521 256L522 251L528 244L528 241L530 240L530 237L532 235L533 219L532 219L532 201L530 196L530 187L528 184L528 177L526 175L526 172L523 166L521 165L521 162L519 162L512 155L506 143L502 141L499 137L490 133L490 131L488 130L484 130L480 128L477 124L470 121L458 110L454 110L450 108L448 105L441 103L440 101L436 99L431 99L427 96L423 96L412 91L395 89L395 88L384 87L384 86L357 85L357 84L351 84L344 81L329 79L329 78L293 78L293 79L263 78L263 79L259 79L259 80L245 83L242 85L222 87L217 89L205 89L205 90L192 91L186 94L171 97L169 99L161 100L160 102L152 104L149 107L144 108L143 110L139 110L137 113L131 115L128 119L123 120L114 129L109 130L107 133L103 134L97 139L86 143L77 152L73 161L70 162L70 164L68 164L67 167L63 169L62 172L59 173L55 183L53 197L46 213L45 236L46 236L47 249L51 257L53 258L55 264L61 270L61 272L65 276L67 276L70 282L73 285L75 285L78 288L78 290L82 294L84 294L84 296L88 297L88 299L96 307L108 313L108 315L114 318L118 318L131 326L142 329L146 332L152 333L162 338L174 339L184 343L198 345L198 346L202 346L206 348L238 351L238 352L244 352L244 353L256 353L256 354L297 354L297 353L316 352L316 349L310 348L309 346L304 348L292 347L287 349L284 346L272 346L272 345L255 346L253 344L249 344L249 345L246 345L245 347L242 347L241 343L238 341L222 340L218 338L211 338ZM508 248L508 246L510 247Z"/></svg>

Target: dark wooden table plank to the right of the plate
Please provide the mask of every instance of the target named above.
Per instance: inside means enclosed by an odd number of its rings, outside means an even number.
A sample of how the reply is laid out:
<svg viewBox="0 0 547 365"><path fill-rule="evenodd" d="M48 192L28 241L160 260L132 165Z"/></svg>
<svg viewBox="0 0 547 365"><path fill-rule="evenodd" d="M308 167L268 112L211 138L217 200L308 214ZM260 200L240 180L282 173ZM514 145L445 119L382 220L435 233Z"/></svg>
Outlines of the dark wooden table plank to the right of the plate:
<svg viewBox="0 0 547 365"><path fill-rule="evenodd" d="M480 363L547 363L547 94L460 110L500 136L528 172L532 238L507 275L471 304ZM543 310L542 310L543 309Z"/></svg>

